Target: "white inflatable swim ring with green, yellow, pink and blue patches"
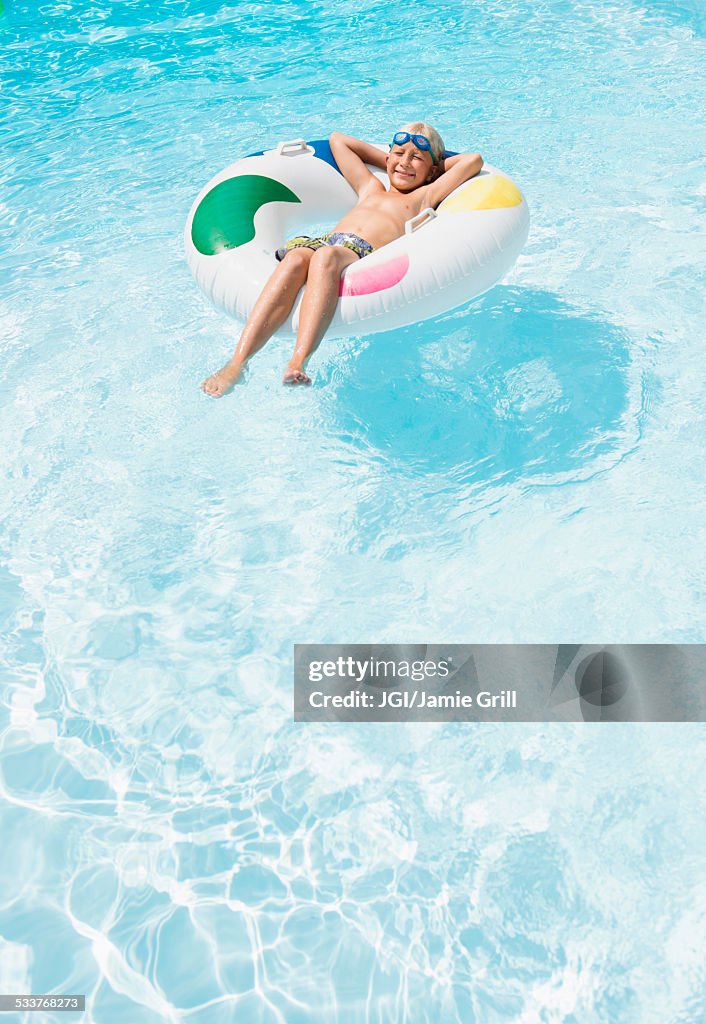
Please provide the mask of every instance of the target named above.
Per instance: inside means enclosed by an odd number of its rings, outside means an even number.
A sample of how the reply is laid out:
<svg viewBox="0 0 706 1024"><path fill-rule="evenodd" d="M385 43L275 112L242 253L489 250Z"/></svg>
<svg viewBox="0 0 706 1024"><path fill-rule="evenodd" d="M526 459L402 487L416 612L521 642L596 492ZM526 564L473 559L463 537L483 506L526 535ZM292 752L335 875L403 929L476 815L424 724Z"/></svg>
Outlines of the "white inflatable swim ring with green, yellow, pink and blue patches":
<svg viewBox="0 0 706 1024"><path fill-rule="evenodd" d="M384 171L370 170L387 185ZM356 202L328 141L280 142L226 167L199 194L184 229L189 265L216 306L246 321L277 266L275 250L295 234L332 230ZM520 189L486 164L437 210L408 221L402 238L345 268L331 334L388 331L474 299L510 269L529 223ZM301 295L278 334L296 335Z"/></svg>

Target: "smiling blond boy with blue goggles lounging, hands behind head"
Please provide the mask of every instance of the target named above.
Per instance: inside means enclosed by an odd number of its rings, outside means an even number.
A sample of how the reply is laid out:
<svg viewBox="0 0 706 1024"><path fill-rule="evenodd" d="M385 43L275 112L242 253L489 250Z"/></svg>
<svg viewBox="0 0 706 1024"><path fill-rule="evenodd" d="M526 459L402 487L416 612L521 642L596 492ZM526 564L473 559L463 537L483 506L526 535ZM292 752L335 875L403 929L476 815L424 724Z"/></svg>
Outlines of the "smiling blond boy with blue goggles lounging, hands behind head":
<svg viewBox="0 0 706 1024"><path fill-rule="evenodd" d="M438 207L483 167L477 153L445 160L444 142L423 121L396 132L386 155L340 132L333 132L330 142L341 173L358 194L358 204L322 239L291 239L278 249L280 265L253 306L233 356L201 385L214 398L231 390L247 360L284 324L303 285L299 330L284 383L310 384L304 367L333 318L344 268L400 238L411 217L426 207ZM388 190L366 164L387 171Z"/></svg>

